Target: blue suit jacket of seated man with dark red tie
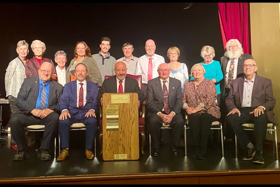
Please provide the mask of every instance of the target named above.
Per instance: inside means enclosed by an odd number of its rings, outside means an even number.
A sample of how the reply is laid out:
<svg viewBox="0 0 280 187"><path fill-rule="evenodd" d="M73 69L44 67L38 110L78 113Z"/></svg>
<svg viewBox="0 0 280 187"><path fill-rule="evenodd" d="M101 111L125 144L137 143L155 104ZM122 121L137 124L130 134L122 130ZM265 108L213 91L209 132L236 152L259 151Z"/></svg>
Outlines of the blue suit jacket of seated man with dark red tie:
<svg viewBox="0 0 280 187"><path fill-rule="evenodd" d="M77 80L68 82L64 85L64 90L60 98L60 112L67 109L70 115L76 114L79 111L88 112L88 110L93 109L97 112L99 106L97 101L98 86L97 84L87 82L87 96L84 107L82 109L77 107Z"/></svg>

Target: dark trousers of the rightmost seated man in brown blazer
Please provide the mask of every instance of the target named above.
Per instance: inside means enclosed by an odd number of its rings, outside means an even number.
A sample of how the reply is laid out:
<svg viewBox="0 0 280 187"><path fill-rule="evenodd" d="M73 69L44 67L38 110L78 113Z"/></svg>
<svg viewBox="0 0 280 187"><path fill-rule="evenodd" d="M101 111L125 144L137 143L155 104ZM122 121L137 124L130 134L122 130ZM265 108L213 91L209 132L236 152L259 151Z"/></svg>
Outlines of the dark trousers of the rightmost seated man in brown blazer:
<svg viewBox="0 0 280 187"><path fill-rule="evenodd" d="M264 111L264 114L261 113L258 115L258 117L255 117L254 114L249 114L249 112L252 111L251 107L241 108L239 111L241 113L240 117L237 113L227 116L227 124L231 124L234 133L237 136L239 145L242 149L245 149L247 144L251 142L245 130L243 129L242 124L253 123L256 150L262 151L268 122L266 111Z"/></svg>

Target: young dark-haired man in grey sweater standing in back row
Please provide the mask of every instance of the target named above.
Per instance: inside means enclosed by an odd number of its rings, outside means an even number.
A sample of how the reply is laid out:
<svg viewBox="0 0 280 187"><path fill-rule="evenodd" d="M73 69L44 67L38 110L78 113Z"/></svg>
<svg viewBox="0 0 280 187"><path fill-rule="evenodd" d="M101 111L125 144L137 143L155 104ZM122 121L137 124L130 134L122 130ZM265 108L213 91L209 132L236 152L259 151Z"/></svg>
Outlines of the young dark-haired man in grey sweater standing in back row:
<svg viewBox="0 0 280 187"><path fill-rule="evenodd" d="M115 75L114 67L117 60L113 56L110 56L110 53L108 52L111 48L110 38L101 38L99 46L101 51L99 51L99 53L97 54L92 55L92 58L96 61L100 70L101 78L97 85L101 87L105 75Z"/></svg>

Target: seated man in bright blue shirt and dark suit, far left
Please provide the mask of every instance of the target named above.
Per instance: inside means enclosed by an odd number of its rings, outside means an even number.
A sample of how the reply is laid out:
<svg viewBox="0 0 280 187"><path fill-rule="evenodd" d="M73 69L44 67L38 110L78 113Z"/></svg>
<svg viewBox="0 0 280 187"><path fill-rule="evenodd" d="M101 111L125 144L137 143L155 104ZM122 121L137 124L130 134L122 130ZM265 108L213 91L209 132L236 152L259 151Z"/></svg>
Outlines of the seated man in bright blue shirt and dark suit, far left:
<svg viewBox="0 0 280 187"><path fill-rule="evenodd" d="M30 157L24 127L36 124L45 125L37 157L41 160L51 159L47 150L57 134L59 101L63 86L51 79L53 67L49 62L41 65L38 75L24 79L15 103L19 111L10 118L11 132L17 142L17 153L13 160Z"/></svg>

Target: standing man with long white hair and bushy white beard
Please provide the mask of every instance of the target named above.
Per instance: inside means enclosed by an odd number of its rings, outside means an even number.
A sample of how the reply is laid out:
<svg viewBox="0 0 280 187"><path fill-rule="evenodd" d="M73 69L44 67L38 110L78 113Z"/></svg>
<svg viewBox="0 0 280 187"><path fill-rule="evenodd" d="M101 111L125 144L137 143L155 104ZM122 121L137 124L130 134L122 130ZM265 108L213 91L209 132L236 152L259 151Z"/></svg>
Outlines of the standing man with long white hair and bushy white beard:
<svg viewBox="0 0 280 187"><path fill-rule="evenodd" d="M225 127L225 115L229 112L225 107L225 99L230 91L230 84L232 79L244 76L243 63L247 59L253 59L253 56L249 54L244 54L241 43L238 39L230 39L227 41L226 52L224 56L221 57L221 68L224 78L221 80L221 123ZM234 140L234 132L232 127L229 125L225 128L226 139Z"/></svg>

